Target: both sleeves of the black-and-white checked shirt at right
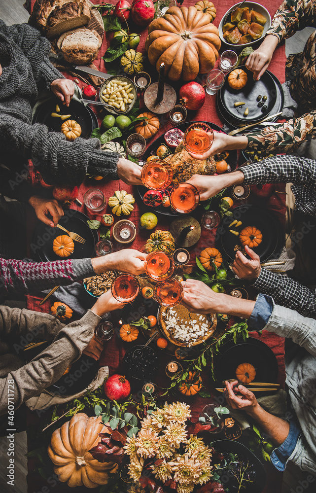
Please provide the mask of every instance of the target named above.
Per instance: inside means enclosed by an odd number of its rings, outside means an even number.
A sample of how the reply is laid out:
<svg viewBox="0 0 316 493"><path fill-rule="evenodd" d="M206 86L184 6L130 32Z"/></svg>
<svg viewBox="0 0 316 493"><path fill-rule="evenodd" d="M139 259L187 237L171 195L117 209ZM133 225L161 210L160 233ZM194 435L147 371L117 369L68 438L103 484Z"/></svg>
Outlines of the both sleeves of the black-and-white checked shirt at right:
<svg viewBox="0 0 316 493"><path fill-rule="evenodd" d="M245 175L244 182L248 184L292 182L296 211L316 217L316 160L276 156L242 167L241 171ZM287 276L264 268L252 285L258 291L271 295L276 303L302 315L316 317L316 289L309 289Z"/></svg>

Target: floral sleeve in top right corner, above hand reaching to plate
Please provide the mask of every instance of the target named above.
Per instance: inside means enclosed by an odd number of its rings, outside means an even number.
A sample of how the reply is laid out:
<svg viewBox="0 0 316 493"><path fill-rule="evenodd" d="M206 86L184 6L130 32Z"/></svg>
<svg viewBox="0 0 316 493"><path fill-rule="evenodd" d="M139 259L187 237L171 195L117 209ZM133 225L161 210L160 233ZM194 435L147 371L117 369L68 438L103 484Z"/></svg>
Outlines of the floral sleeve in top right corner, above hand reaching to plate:
<svg viewBox="0 0 316 493"><path fill-rule="evenodd" d="M276 35L281 41L307 26L313 27L316 25L315 11L316 0L284 0L272 19L267 35Z"/></svg>

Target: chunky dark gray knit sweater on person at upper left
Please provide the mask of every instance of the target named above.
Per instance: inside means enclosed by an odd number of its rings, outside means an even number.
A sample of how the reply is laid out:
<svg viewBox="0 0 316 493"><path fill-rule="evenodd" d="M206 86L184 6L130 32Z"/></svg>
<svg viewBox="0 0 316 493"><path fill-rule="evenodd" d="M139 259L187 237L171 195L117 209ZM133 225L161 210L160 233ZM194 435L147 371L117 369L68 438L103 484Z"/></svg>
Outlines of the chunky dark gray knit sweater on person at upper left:
<svg viewBox="0 0 316 493"><path fill-rule="evenodd" d="M7 27L0 20L0 156L20 173L32 159L46 183L78 185L86 173L118 179L119 155L100 150L98 139L66 141L46 125L32 125L37 89L61 73L49 62L49 41L28 24Z"/></svg>

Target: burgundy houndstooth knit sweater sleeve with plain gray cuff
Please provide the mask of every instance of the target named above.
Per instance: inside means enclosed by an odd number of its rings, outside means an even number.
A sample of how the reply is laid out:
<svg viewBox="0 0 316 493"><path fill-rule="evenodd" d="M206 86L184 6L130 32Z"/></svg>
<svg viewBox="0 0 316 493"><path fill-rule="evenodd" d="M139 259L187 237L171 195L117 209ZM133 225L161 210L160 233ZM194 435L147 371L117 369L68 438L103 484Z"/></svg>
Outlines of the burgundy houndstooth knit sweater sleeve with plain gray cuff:
<svg viewBox="0 0 316 493"><path fill-rule="evenodd" d="M0 258L0 295L26 294L94 276L90 258L23 262Z"/></svg>

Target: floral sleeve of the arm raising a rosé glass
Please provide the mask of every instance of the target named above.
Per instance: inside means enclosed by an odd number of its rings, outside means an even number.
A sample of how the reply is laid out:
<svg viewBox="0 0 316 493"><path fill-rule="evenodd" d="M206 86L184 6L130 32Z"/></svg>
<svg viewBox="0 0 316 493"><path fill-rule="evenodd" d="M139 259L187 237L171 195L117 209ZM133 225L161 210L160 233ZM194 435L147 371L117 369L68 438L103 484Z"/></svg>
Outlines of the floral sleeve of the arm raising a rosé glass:
<svg viewBox="0 0 316 493"><path fill-rule="evenodd" d="M306 139L316 139L316 109L299 118L291 118L278 126L250 132L246 137L248 151L264 150L267 154L294 152Z"/></svg>

